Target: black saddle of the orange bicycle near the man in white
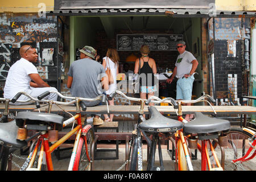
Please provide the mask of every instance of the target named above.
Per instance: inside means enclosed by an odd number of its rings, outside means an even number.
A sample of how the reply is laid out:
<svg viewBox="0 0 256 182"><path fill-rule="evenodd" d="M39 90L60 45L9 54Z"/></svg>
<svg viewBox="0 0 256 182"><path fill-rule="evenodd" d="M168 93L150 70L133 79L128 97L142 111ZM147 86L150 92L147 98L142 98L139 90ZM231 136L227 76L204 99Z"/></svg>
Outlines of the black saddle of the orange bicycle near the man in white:
<svg viewBox="0 0 256 182"><path fill-rule="evenodd" d="M64 117L51 113L36 113L31 111L21 111L17 114L15 120L16 125L23 127L24 120L27 125L40 125L42 123L56 123L56 130L61 130L63 127Z"/></svg>

